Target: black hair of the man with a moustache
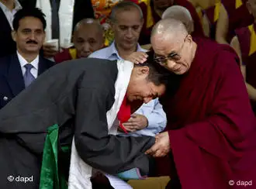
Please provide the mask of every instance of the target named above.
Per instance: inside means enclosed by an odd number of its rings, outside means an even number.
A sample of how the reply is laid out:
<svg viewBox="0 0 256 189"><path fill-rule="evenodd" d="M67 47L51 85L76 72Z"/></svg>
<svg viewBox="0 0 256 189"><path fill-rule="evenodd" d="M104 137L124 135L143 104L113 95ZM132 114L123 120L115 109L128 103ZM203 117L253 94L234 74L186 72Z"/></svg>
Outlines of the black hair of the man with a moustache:
<svg viewBox="0 0 256 189"><path fill-rule="evenodd" d="M40 19L40 21L43 23L43 30L47 27L47 21L44 19L45 15L41 11L41 9L35 8L35 7L28 7L20 9L16 12L14 15L14 19L12 21L12 26L15 31L19 29L19 20L24 19L27 16L35 17L37 19Z"/></svg>

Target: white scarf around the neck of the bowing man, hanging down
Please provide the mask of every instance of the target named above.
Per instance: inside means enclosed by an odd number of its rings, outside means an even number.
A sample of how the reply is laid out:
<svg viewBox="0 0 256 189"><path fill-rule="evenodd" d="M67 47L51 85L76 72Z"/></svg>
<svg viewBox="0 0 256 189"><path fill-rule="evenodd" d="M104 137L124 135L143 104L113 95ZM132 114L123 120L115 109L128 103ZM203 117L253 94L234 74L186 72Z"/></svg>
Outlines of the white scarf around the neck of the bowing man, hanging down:
<svg viewBox="0 0 256 189"><path fill-rule="evenodd" d="M116 115L123 102L126 90L130 81L130 75L133 70L133 63L126 60L117 60L118 75L115 83L115 102L112 108L106 113L109 134L116 135L117 125L113 124ZM74 145L74 139L71 148L71 165L69 170L68 188L69 189L92 189L90 178L92 176L92 167L85 163L78 155Z"/></svg>

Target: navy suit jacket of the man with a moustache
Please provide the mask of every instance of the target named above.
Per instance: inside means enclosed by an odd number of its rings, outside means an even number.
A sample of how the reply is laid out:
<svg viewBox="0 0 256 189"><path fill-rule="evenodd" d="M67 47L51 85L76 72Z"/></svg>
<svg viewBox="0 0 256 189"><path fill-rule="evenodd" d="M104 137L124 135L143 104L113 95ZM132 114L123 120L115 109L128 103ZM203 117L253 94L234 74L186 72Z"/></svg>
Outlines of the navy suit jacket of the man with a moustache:
<svg viewBox="0 0 256 189"><path fill-rule="evenodd" d="M40 57L38 75L54 65L54 62ZM25 88L22 70L17 54L0 58L0 109Z"/></svg>

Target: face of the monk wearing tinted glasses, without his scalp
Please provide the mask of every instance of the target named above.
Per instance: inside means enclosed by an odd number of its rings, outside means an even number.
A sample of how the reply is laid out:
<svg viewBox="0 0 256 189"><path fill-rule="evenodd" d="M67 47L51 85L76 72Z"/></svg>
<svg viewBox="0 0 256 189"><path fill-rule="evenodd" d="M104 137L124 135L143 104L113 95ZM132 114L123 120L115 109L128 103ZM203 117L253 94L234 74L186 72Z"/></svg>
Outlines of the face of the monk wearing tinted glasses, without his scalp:
<svg viewBox="0 0 256 189"><path fill-rule="evenodd" d="M193 60L192 37L190 35L185 36L182 42L155 35L151 38L151 44L155 52L154 60L158 64L175 74L185 74L189 70Z"/></svg>

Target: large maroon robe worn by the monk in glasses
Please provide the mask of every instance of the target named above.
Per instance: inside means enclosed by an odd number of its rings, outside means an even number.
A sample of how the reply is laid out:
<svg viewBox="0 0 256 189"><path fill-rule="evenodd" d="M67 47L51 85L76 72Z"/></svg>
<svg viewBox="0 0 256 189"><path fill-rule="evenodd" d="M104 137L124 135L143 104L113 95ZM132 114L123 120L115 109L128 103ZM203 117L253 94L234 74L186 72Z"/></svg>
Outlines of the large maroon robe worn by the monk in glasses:
<svg viewBox="0 0 256 189"><path fill-rule="evenodd" d="M195 43L189 72L161 99L182 189L241 188L229 180L256 188L256 122L239 59L230 46Z"/></svg>

